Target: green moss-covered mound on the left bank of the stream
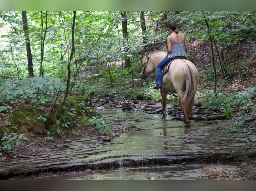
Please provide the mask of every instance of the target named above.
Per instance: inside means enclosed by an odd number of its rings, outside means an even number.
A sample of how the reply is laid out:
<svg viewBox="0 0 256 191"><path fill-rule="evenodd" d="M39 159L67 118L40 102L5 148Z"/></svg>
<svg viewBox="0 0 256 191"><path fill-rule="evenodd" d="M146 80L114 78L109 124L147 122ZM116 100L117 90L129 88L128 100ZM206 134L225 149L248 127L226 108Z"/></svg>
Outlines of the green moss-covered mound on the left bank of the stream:
<svg viewBox="0 0 256 191"><path fill-rule="evenodd" d="M26 130L38 135L46 135L47 132L66 135L69 128L89 127L90 118L100 115L91 104L87 95L68 96L62 108L45 111L35 106L21 107L14 111L9 119L11 124L17 127L13 128L15 133L24 133Z"/></svg>

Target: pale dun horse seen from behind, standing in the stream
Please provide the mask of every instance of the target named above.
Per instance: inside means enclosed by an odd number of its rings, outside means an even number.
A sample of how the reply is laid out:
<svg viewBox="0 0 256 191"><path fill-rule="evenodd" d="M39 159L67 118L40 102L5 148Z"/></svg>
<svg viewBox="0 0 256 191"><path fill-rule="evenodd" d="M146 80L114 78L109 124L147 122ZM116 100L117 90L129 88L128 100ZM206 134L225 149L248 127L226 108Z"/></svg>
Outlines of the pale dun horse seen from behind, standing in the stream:
<svg viewBox="0 0 256 191"><path fill-rule="evenodd" d="M167 55L163 51L155 51L148 55L145 53L143 58L143 68L140 73L142 79L146 79L152 74L156 65ZM179 104L184 113L184 126L189 127L189 120L193 118L192 107L197 92L198 71L195 65L186 59L174 59L168 64L168 71L162 77L162 96L163 119L166 120L166 95L176 94Z"/></svg>

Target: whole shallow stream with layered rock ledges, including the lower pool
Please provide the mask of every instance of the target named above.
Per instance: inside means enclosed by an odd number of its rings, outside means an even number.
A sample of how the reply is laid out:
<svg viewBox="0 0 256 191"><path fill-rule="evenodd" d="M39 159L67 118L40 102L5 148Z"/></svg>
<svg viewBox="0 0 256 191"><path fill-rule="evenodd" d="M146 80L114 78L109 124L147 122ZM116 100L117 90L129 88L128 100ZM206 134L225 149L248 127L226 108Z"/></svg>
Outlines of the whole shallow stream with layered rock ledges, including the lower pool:
<svg viewBox="0 0 256 191"><path fill-rule="evenodd" d="M192 120L185 128L183 121L164 121L159 114L100 112L118 136L71 139L37 157L3 161L0 179L207 180L214 173L232 179L239 161L255 157L244 140L250 135L224 133L221 120Z"/></svg>

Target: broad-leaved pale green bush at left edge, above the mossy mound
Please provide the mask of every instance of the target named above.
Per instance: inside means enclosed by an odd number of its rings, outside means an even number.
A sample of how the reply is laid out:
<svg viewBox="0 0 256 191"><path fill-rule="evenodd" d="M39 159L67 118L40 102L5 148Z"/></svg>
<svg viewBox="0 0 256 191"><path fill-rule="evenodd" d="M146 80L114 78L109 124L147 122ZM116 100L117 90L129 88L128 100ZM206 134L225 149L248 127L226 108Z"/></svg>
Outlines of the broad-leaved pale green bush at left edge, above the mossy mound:
<svg viewBox="0 0 256 191"><path fill-rule="evenodd" d="M55 95L64 89L65 85L58 78L46 76L4 81L0 77L0 91L3 93L0 102L58 104Z"/></svg>

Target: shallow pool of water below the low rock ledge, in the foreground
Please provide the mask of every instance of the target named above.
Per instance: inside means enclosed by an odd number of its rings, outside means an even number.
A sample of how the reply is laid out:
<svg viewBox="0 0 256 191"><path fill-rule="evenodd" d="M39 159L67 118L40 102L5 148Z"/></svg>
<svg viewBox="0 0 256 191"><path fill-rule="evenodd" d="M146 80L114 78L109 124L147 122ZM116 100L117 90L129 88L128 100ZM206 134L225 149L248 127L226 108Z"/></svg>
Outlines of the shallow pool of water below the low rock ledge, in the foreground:
<svg viewBox="0 0 256 191"><path fill-rule="evenodd" d="M206 180L201 177L202 167L203 165L120 167L37 177L37 180Z"/></svg>

